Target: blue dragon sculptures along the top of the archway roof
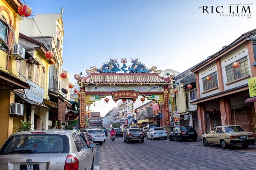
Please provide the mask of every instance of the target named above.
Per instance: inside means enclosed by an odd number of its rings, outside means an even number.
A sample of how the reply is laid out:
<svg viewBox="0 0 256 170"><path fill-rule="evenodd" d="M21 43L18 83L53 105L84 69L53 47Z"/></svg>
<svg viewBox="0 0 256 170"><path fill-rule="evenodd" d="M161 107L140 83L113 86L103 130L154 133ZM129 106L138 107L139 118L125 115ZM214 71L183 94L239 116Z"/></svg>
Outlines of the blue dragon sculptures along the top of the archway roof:
<svg viewBox="0 0 256 170"><path fill-rule="evenodd" d="M126 58L122 58L121 62L123 66L121 68L117 63L117 59L110 59L110 62L104 63L100 69L96 67L90 67L90 71L99 72L99 73L116 73L118 71L123 71L124 73L150 73L156 71L157 67L151 67L150 69L146 68L144 64L138 62L138 59L131 59L131 65L128 67Z"/></svg>

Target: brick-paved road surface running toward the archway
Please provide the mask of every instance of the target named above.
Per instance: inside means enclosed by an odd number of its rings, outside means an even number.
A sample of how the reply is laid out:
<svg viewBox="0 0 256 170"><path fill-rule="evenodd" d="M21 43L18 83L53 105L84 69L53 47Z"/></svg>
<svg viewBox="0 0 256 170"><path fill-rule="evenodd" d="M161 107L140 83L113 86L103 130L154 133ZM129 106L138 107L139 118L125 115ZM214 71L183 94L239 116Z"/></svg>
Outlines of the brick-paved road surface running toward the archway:
<svg viewBox="0 0 256 170"><path fill-rule="evenodd" d="M256 146L224 150L205 147L202 141L177 142L146 139L126 143L122 137L107 138L97 145L95 170L251 170L256 169ZM98 166L97 166L98 165Z"/></svg>

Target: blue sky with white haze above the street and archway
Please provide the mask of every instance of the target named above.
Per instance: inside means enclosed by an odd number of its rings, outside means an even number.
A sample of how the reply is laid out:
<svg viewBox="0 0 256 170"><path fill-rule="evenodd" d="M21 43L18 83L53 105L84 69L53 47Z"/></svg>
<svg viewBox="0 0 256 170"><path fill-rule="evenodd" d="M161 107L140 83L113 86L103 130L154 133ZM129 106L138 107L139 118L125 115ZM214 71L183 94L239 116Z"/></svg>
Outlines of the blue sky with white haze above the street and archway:
<svg viewBox="0 0 256 170"><path fill-rule="evenodd" d="M63 69L73 83L74 74L85 75L86 69L100 68L110 58L138 58L148 68L186 71L256 28L253 2L232 0L250 4L247 18L220 17L215 8L223 6L218 10L228 14L231 3L223 0L25 0L35 14L64 8ZM202 6L209 12L214 6L214 13L202 14ZM235 5L230 6L234 11Z"/></svg>

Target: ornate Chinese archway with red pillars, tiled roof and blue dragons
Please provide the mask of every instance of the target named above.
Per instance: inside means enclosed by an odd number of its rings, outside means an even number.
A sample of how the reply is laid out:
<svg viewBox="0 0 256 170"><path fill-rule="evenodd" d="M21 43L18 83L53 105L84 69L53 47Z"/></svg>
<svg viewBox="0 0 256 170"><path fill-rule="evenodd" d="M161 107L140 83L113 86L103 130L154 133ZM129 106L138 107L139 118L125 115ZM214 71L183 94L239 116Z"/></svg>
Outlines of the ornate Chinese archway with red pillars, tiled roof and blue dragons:
<svg viewBox="0 0 256 170"><path fill-rule="evenodd" d="M131 59L131 58L130 58ZM162 126L170 125L169 114L169 89L168 86L172 77L160 77L161 71L156 71L157 67L148 69L134 59L132 65L127 67L126 58L121 59L122 67L117 63L117 59L110 59L102 65L102 68L91 67L87 70L88 76L80 77L76 74L81 87L80 95L80 128L86 127L86 106L90 106L96 100L101 100L108 95L113 99L137 99L139 95L147 99L154 100L162 106L163 123ZM123 73L122 73L123 72Z"/></svg>

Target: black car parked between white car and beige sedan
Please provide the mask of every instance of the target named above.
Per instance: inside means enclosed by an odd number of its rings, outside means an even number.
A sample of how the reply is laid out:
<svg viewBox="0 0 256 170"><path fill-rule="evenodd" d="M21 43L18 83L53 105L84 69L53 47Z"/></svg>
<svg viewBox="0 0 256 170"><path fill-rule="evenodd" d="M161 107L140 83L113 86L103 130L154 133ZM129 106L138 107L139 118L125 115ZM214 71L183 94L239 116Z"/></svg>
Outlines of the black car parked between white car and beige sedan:
<svg viewBox="0 0 256 170"><path fill-rule="evenodd" d="M177 139L178 142L182 140L192 139L194 142L198 138L197 131L192 126L177 126L171 131L169 139Z"/></svg>

